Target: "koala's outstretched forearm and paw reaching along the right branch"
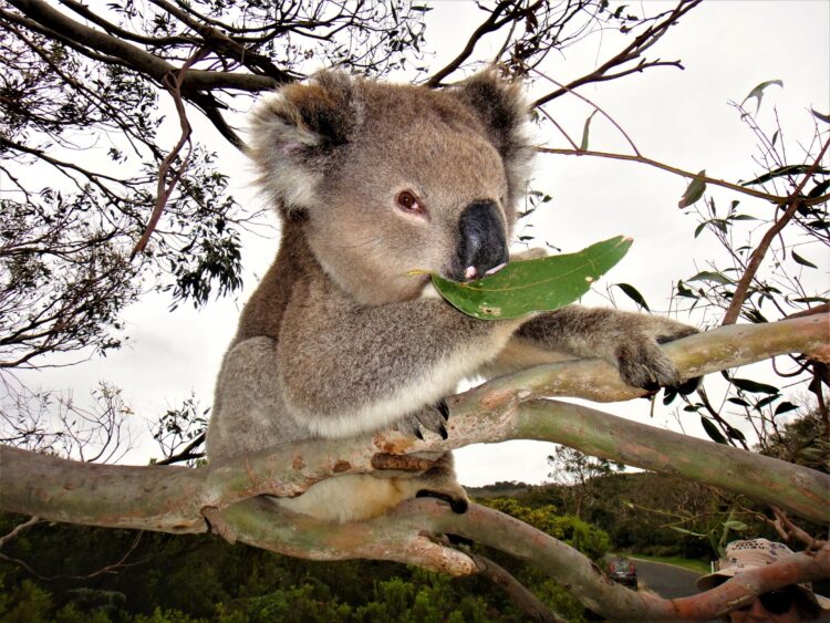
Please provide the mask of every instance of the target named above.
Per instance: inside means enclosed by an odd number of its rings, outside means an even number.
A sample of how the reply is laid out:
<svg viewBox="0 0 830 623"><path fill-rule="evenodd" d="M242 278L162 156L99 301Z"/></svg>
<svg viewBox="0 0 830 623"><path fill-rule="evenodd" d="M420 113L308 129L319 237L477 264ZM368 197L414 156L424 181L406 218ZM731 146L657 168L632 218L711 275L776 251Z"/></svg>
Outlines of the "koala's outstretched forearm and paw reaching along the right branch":
<svg viewBox="0 0 830 623"><path fill-rule="evenodd" d="M660 344L697 332L667 318L570 305L528 321L516 338L577 357L603 359L616 365L629 385L653 391L683 382ZM682 390L692 391L696 385L693 380Z"/></svg>

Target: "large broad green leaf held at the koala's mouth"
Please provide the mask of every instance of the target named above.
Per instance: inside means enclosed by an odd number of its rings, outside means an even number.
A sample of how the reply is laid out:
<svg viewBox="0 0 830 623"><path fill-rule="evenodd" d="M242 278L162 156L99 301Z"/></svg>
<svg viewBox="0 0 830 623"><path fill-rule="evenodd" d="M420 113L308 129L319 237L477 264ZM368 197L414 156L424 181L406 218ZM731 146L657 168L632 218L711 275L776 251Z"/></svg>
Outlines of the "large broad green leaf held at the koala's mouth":
<svg viewBox="0 0 830 623"><path fill-rule="evenodd" d="M456 309L481 320L520 318L552 311L588 292L629 251L632 239L618 236L577 253L515 261L496 274L459 283L432 273L435 289Z"/></svg>

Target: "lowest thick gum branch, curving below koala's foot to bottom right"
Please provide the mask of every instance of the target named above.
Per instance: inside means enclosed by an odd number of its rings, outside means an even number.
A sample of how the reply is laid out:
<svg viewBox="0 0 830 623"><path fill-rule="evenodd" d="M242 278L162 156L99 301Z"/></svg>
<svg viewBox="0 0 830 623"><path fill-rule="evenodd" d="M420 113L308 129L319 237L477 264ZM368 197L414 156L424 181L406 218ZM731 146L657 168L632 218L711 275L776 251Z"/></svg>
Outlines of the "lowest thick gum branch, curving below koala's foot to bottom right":
<svg viewBox="0 0 830 623"><path fill-rule="evenodd" d="M616 584L575 549L494 509L470 505L456 515L434 500L409 500L372 521L332 526L294 516L266 500L246 500L222 511L240 541L313 560L342 560L351 551L359 558L397 560L401 543L407 554L433 571L455 574L480 572L474 560L437 537L457 534L528 562L567 586L585 606L613 620L707 620L754 595L790 583L830 575L830 547L793 554L776 564L741 574L706 593L675 600L635 592ZM505 538L509 534L509 538ZM346 554L347 555L347 554ZM413 563L412 559L406 562Z"/></svg>

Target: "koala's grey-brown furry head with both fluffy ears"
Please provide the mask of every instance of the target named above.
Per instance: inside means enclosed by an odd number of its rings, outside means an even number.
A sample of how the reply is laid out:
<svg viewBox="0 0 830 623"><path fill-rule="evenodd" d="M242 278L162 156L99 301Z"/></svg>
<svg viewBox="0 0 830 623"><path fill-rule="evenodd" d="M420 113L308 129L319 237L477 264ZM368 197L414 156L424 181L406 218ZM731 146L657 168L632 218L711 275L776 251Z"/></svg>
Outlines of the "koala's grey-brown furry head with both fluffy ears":
<svg viewBox="0 0 830 623"><path fill-rule="evenodd" d="M519 87L488 71L444 91L318 74L256 108L250 155L283 218L366 304L507 261L532 157Z"/></svg>

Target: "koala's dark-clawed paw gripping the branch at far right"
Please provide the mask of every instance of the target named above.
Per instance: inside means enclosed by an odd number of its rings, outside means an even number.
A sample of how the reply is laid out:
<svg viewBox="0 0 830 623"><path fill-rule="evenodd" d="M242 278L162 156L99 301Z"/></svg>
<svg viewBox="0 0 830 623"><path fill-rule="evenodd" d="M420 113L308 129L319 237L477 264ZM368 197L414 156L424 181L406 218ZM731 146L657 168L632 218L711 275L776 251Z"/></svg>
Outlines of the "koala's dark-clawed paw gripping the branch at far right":
<svg viewBox="0 0 830 623"><path fill-rule="evenodd" d="M697 388L699 377L683 381L660 344L694 335L697 329L668 319L647 318L651 320L647 325L626 335L626 340L616 347L620 376L629 385L650 392L673 387L681 394L691 394Z"/></svg>

